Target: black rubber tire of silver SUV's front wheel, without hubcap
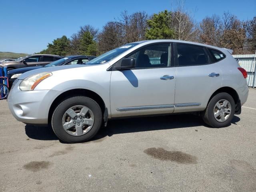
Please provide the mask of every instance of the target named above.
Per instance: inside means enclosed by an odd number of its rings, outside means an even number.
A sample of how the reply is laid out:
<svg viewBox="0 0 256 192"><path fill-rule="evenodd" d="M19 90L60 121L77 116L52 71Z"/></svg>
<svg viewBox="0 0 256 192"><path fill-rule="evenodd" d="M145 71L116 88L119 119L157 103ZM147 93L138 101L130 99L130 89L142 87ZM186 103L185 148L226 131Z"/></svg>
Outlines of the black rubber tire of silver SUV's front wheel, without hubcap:
<svg viewBox="0 0 256 192"><path fill-rule="evenodd" d="M64 113L66 110L76 105L84 105L90 108L94 115L94 124L92 128L86 134L81 136L73 136L68 134L62 126L62 117ZM56 136L66 143L86 142L93 138L100 130L102 119L102 111L97 102L85 96L74 96L62 101L56 107L52 114L52 129Z"/></svg>

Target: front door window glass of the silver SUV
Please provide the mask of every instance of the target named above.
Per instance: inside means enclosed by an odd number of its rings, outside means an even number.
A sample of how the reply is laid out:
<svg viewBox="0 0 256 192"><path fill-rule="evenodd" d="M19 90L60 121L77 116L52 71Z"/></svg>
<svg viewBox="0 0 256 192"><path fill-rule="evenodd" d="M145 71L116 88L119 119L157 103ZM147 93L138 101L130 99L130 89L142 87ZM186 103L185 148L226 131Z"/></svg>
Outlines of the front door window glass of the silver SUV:
<svg viewBox="0 0 256 192"><path fill-rule="evenodd" d="M126 58L135 59L135 68L170 66L170 44L154 44L141 48Z"/></svg>

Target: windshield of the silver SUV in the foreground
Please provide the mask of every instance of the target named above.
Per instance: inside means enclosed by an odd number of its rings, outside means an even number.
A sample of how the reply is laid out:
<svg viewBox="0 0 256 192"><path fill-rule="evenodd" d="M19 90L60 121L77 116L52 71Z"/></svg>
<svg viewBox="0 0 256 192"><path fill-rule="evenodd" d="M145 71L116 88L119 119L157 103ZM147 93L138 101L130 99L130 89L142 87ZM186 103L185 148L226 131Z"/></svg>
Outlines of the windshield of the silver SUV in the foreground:
<svg viewBox="0 0 256 192"><path fill-rule="evenodd" d="M122 54L123 52L129 50L130 48L132 48L132 47L134 47L136 45L138 45L138 43L126 44L126 45L121 46L119 48L113 49L113 50L111 50L109 52L106 52L106 53L102 54L101 56L98 56L95 59L90 60L86 64L96 65L96 64L106 63L106 62L114 59L118 55Z"/></svg>

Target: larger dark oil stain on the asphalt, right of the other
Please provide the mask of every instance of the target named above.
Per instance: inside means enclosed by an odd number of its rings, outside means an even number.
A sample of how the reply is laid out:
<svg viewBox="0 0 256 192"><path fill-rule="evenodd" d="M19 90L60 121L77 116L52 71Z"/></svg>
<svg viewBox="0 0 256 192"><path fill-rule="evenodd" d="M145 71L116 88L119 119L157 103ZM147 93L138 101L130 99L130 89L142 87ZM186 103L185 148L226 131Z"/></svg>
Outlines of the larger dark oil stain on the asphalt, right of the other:
<svg viewBox="0 0 256 192"><path fill-rule="evenodd" d="M163 148L148 148L144 150L147 155L163 160L163 161L174 161L180 164L196 164L197 157L186 154L180 151L167 151Z"/></svg>

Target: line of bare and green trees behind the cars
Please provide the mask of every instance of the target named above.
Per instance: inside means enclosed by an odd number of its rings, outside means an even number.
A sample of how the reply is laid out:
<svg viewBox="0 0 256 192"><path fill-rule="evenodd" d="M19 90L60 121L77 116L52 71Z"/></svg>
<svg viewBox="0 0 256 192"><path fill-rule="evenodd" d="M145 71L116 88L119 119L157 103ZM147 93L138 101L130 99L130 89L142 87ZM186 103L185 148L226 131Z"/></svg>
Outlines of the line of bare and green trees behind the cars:
<svg viewBox="0 0 256 192"><path fill-rule="evenodd" d="M48 43L41 54L98 56L126 43L150 39L177 39L200 42L232 49L233 54L253 54L256 50L256 16L239 20L225 12L196 22L192 14L178 6L175 11L164 10L149 15L146 12L121 12L102 30L80 26L70 38L62 36Z"/></svg>

